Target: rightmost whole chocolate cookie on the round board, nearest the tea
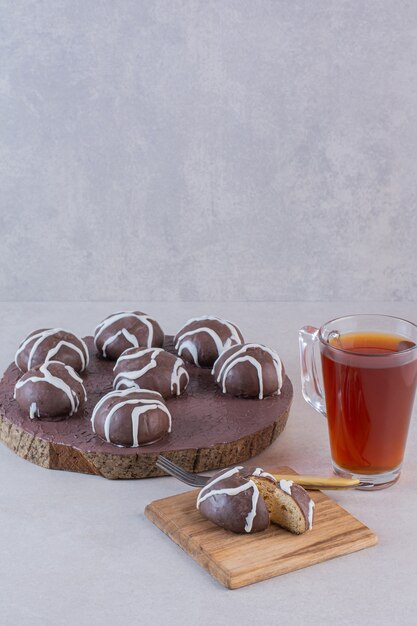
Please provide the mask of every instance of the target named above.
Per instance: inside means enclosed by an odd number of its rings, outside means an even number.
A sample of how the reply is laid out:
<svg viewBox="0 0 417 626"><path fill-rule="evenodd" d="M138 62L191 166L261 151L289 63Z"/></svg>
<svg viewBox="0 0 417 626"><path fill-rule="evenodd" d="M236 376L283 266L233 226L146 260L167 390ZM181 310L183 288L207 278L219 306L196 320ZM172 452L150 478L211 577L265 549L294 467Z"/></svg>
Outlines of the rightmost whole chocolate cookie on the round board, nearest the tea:
<svg viewBox="0 0 417 626"><path fill-rule="evenodd" d="M284 368L278 354L258 343L244 343L225 350L212 374L223 393L245 398L279 395Z"/></svg>

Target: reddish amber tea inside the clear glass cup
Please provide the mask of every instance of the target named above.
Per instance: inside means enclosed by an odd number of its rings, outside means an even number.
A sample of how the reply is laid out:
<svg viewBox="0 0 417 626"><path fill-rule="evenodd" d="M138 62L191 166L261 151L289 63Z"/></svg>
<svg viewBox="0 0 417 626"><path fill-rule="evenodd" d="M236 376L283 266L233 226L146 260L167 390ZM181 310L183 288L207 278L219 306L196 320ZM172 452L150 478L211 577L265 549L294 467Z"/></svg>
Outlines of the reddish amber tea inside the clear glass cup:
<svg viewBox="0 0 417 626"><path fill-rule="evenodd" d="M328 344L321 360L334 462L355 474L394 470L403 459L417 382L417 361L396 355L416 344L382 332L330 335Z"/></svg>

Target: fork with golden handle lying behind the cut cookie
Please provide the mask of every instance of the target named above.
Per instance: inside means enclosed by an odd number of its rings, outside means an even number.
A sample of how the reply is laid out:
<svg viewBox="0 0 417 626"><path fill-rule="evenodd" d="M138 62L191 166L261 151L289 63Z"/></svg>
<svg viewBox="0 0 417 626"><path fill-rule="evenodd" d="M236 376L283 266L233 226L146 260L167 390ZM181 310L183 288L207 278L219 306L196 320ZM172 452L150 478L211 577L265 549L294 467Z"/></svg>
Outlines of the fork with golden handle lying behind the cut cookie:
<svg viewBox="0 0 417 626"><path fill-rule="evenodd" d="M156 466L191 487L204 487L211 479L211 476L188 472L162 455L158 456ZM301 474L273 474L273 476L276 480L292 480L297 485L302 485L306 489L352 489L355 487L366 489L373 486L371 482L360 481L357 478L342 478L339 476L331 476L328 478L324 476L306 476Z"/></svg>

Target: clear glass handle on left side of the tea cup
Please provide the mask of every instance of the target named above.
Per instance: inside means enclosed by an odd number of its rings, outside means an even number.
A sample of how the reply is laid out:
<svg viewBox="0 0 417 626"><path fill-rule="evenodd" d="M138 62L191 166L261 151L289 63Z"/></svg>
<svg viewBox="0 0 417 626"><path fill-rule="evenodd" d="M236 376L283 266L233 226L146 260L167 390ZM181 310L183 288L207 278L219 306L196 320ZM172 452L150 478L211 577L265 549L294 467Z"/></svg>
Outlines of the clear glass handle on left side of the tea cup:
<svg viewBox="0 0 417 626"><path fill-rule="evenodd" d="M324 393L317 369L318 335L319 329L314 326L304 326L299 332L301 389L304 400L313 409L327 417Z"/></svg>

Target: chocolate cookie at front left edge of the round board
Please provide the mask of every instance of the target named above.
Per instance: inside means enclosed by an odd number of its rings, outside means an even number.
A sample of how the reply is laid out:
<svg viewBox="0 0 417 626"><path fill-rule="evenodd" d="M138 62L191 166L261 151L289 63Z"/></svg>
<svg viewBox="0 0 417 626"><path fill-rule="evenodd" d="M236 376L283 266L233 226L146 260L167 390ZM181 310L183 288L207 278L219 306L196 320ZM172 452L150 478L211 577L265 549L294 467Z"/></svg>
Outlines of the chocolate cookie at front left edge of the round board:
<svg viewBox="0 0 417 626"><path fill-rule="evenodd" d="M70 365L59 361L43 363L23 374L14 397L31 419L65 419L87 401L82 379Z"/></svg>

